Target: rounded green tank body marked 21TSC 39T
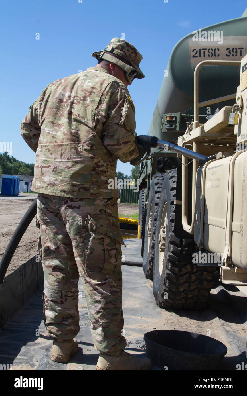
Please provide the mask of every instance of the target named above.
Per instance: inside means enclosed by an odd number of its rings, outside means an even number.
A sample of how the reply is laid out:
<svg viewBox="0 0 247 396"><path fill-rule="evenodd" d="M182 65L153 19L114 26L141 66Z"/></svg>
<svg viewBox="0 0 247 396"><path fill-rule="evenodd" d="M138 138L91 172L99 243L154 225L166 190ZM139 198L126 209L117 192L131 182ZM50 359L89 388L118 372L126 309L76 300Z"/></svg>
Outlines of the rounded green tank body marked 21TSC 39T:
<svg viewBox="0 0 247 396"><path fill-rule="evenodd" d="M205 38L208 41L205 41ZM172 133L162 132L162 117L166 113L185 112L191 109L193 74L198 63L205 60L240 61L246 53L247 10L240 18L199 29L182 38L170 54L148 135L163 140L173 138ZM219 67L222 72L220 79ZM209 77L210 84L208 84ZM238 84L239 66L203 67L199 77L201 93L199 101L230 95L236 91ZM229 106L230 101L226 104L221 103L221 107L224 105ZM214 105L214 109L216 108L217 105ZM202 114L203 111L206 114L205 109L202 108Z"/></svg>

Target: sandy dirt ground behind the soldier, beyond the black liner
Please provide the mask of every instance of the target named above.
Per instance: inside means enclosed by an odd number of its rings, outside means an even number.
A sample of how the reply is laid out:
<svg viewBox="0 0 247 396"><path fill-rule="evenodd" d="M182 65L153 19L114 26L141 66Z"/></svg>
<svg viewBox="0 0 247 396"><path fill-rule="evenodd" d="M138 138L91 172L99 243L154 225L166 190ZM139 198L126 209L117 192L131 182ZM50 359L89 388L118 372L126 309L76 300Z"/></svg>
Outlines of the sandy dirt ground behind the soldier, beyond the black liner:
<svg viewBox="0 0 247 396"><path fill-rule="evenodd" d="M4 254L4 251L10 242L15 228L31 204L32 200L28 199L0 199L0 259L2 258L2 255ZM124 213L126 217L138 212L138 205L135 204L118 204L118 206L119 213ZM36 227L34 217L25 234L23 235L19 246L15 250L6 272L6 276L37 254L38 236L39 229Z"/></svg>

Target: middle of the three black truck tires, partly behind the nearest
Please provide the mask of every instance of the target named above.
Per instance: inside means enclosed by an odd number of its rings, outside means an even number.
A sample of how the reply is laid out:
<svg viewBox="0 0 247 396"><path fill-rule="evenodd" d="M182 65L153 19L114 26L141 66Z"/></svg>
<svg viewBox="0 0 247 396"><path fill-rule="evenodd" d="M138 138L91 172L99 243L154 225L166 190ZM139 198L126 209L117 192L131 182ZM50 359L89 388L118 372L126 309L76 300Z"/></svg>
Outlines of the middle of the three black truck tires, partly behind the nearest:
<svg viewBox="0 0 247 396"><path fill-rule="evenodd" d="M153 280L153 257L154 241L156 231L156 221L158 213L159 198L164 179L163 173L153 176L147 201L146 223L143 232L144 251L143 251L143 270L146 278Z"/></svg>

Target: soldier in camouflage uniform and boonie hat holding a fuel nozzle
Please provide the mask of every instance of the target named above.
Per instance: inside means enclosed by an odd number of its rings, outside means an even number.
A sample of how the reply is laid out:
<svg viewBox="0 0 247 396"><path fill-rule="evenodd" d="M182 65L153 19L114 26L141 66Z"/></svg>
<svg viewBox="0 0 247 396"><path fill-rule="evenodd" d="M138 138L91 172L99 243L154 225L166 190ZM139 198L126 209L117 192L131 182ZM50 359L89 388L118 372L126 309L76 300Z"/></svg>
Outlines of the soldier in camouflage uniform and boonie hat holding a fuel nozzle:
<svg viewBox="0 0 247 396"><path fill-rule="evenodd" d="M134 78L144 78L142 55L113 38L92 56L96 67L49 84L21 122L21 135L36 152L31 188L38 193L46 334L54 338L52 360L68 362L77 352L80 274L100 351L96 370L148 370L151 360L123 350L124 242L118 191L108 188L118 158L135 164L144 153L135 142L135 108L127 89Z"/></svg>

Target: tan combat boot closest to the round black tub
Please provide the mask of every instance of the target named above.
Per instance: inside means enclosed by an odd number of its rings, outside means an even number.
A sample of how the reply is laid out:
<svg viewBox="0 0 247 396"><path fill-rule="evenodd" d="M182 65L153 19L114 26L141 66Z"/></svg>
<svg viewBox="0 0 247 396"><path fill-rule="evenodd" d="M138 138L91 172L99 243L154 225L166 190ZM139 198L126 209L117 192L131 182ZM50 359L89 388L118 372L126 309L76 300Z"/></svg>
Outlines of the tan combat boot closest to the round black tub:
<svg viewBox="0 0 247 396"><path fill-rule="evenodd" d="M125 352L123 349L116 354L100 353L96 370L150 370L152 362L148 358L138 358L137 356Z"/></svg>

